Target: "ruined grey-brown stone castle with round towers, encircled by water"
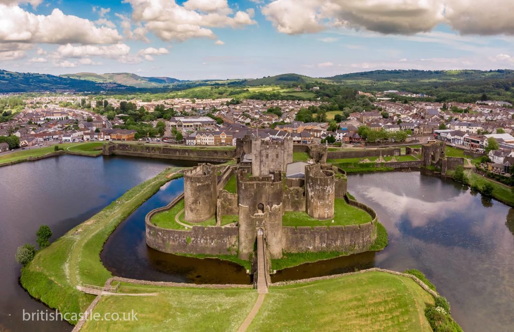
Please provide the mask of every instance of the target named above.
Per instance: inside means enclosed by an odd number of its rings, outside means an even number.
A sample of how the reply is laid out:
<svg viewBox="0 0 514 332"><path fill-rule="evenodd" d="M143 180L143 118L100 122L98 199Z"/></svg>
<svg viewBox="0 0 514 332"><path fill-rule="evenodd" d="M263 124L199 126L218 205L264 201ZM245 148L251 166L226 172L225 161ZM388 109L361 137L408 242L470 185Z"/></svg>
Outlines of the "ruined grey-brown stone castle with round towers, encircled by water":
<svg viewBox="0 0 514 332"><path fill-rule="evenodd" d="M324 163L293 162L293 149L290 138L245 137L237 141L237 164L200 164L185 171L183 198L146 216L146 243L164 252L232 254L244 260L254 252L258 234L264 236L271 259L279 259L283 252L368 250L376 238L375 212L347 197L344 171ZM319 147L313 154L323 156ZM230 180L235 180L233 191L224 189ZM189 228L165 229L152 223L153 215L170 210L181 199ZM371 221L322 226L323 221L334 223L336 201L364 210ZM284 226L284 215L293 212L313 224ZM206 220L214 224L198 225Z"/></svg>

